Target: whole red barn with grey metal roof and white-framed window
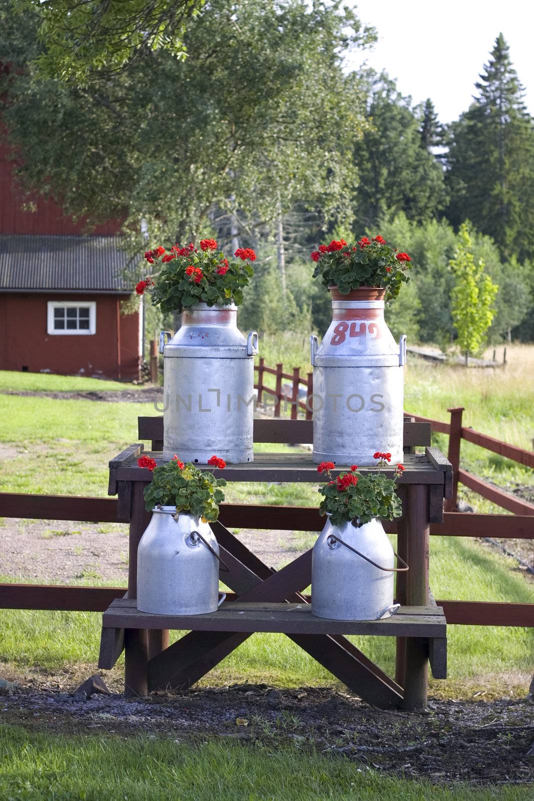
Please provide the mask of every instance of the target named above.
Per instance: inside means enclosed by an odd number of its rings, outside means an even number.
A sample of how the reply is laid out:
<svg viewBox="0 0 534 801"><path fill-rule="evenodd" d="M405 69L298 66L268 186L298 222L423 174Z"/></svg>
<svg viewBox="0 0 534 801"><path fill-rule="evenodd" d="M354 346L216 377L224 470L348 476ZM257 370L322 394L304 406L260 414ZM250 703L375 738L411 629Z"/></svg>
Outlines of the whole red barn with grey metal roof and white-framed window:
<svg viewBox="0 0 534 801"><path fill-rule="evenodd" d="M22 196L0 151L0 370L139 377L142 313L123 313L133 285L117 223L82 235L51 201Z"/></svg>

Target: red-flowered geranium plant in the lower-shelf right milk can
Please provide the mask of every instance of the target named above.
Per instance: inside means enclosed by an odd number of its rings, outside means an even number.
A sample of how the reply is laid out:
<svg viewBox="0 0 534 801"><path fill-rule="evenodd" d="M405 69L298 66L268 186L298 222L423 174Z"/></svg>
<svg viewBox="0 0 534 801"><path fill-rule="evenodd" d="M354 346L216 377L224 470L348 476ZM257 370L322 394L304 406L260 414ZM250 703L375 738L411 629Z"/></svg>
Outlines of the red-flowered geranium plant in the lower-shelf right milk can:
<svg viewBox="0 0 534 801"><path fill-rule="evenodd" d="M375 517L382 520L400 517L403 513L402 504L395 493L395 480L380 472L383 464L385 462L379 462L378 473L362 475L358 469L354 469L351 473L340 473L332 481L326 465L331 465L332 469L333 463L323 463L325 466L321 472L327 474L329 481L318 490L324 496L319 512L329 514L332 525L343 525L351 521L353 525L359 526ZM319 465L319 468L323 465ZM395 476L399 472L395 471Z"/></svg>

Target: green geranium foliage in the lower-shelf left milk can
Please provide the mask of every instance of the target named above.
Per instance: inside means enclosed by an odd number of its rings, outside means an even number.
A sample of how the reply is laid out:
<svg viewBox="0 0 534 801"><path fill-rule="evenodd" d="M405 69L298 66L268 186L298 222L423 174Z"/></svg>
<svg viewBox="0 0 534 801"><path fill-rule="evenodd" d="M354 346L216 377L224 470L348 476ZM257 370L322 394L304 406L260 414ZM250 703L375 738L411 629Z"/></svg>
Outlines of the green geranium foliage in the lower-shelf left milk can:
<svg viewBox="0 0 534 801"><path fill-rule="evenodd" d="M212 522L219 517L219 503L224 501L220 487L223 478L215 478L209 470L202 471L191 462L183 465L172 459L156 467L152 481L145 487L147 512L157 505L175 506L177 512L189 512Z"/></svg>

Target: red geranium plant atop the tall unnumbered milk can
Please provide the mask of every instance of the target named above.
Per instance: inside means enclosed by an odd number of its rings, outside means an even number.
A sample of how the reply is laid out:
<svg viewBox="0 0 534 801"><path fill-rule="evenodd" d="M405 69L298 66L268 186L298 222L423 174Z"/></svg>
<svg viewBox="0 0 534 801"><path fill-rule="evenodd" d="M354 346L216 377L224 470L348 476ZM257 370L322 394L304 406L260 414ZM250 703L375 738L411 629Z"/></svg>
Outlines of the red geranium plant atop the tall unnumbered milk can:
<svg viewBox="0 0 534 801"><path fill-rule="evenodd" d="M208 306L243 303L243 287L254 275L247 259L254 260L255 252L247 251L245 258L229 261L216 249L215 242L214 248L203 247L207 241L210 240L201 241L199 251L191 243L188 248L173 245L169 253L164 248L159 248L163 252L158 249L148 252L149 264L155 267L151 268L153 275L147 291L152 303L163 313L181 312L198 303Z"/></svg>

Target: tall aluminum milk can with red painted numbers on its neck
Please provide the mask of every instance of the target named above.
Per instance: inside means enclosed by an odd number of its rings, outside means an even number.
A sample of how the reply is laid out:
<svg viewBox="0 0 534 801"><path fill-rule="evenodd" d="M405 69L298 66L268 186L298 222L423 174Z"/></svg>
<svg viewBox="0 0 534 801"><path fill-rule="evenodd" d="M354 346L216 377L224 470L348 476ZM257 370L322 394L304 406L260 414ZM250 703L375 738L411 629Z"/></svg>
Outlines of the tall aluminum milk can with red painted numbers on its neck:
<svg viewBox="0 0 534 801"><path fill-rule="evenodd" d="M383 317L385 290L331 290L332 321L313 365L313 460L375 465L377 450L403 460L406 335L395 343Z"/></svg>

